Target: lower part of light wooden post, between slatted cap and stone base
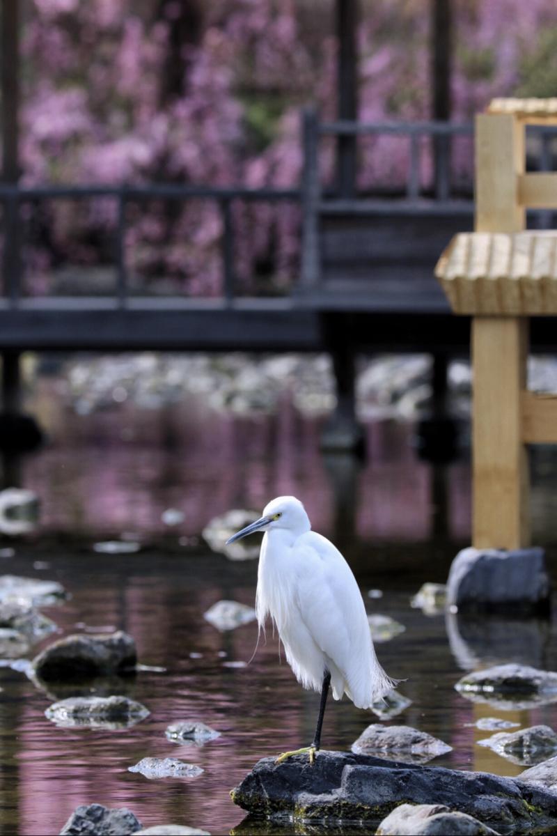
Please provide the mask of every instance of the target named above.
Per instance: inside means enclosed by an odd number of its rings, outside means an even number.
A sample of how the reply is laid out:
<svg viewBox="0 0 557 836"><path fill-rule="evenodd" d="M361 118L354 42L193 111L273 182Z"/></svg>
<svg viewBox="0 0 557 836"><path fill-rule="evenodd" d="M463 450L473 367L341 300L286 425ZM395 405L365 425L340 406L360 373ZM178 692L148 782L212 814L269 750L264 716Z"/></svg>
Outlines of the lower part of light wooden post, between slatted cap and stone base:
<svg viewBox="0 0 557 836"><path fill-rule="evenodd" d="M529 480L521 418L527 330L524 318L473 319L476 548L520 548L529 543Z"/></svg>

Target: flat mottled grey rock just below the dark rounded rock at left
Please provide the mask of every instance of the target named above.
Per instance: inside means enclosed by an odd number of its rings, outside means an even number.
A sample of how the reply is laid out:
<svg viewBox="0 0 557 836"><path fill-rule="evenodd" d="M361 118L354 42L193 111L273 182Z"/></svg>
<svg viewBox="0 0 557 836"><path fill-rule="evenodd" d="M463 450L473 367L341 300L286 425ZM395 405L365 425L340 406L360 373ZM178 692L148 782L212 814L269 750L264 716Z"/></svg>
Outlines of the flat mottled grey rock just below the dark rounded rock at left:
<svg viewBox="0 0 557 836"><path fill-rule="evenodd" d="M55 702L44 712L57 726L71 728L128 728L149 716L149 709L127 696L73 696Z"/></svg>

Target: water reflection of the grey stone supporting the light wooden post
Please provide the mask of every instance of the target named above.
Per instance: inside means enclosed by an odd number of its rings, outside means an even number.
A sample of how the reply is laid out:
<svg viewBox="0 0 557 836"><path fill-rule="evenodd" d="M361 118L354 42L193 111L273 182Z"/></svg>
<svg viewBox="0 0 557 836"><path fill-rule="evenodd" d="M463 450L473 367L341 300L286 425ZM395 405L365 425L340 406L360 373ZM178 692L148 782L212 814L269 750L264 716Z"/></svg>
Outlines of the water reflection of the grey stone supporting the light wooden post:
<svg viewBox="0 0 557 836"><path fill-rule="evenodd" d="M550 638L549 619L494 613L445 614L448 643L463 670L520 662L541 665Z"/></svg>

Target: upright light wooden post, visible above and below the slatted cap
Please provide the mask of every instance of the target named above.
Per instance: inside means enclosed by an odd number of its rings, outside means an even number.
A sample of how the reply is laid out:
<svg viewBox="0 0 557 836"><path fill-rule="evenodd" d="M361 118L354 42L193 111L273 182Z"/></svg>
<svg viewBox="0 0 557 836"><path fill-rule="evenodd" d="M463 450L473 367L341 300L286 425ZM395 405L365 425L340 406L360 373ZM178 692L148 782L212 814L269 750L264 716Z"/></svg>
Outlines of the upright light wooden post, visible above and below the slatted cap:
<svg viewBox="0 0 557 836"><path fill-rule="evenodd" d="M524 124L513 115L476 117L476 232L519 232L524 206ZM528 319L475 316L473 362L473 545L529 544L529 474L522 440Z"/></svg>

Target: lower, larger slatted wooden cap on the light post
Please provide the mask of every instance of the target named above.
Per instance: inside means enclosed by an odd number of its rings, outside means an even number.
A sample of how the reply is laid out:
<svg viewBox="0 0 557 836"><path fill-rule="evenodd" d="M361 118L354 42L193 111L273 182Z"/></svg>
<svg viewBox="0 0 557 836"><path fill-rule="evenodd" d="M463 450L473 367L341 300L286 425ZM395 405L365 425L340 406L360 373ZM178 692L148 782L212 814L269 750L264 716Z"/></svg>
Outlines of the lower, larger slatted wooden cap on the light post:
<svg viewBox="0 0 557 836"><path fill-rule="evenodd" d="M460 232L435 275L457 314L557 314L557 232Z"/></svg>

